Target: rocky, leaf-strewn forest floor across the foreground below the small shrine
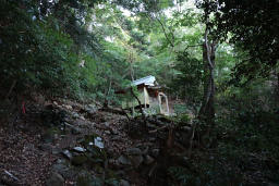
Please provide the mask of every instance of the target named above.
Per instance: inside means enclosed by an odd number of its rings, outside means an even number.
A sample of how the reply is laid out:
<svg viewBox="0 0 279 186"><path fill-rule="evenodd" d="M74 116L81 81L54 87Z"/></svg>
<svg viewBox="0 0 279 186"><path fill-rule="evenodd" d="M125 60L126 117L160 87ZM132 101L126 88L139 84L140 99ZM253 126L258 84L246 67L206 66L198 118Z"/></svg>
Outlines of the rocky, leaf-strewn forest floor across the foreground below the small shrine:
<svg viewBox="0 0 279 186"><path fill-rule="evenodd" d="M277 162L251 153L238 164L195 145L187 159L189 126L172 133L171 122L159 115L145 126L141 117L69 100L26 108L1 123L0 185L180 185L183 178L192 185L269 185L263 170Z"/></svg>

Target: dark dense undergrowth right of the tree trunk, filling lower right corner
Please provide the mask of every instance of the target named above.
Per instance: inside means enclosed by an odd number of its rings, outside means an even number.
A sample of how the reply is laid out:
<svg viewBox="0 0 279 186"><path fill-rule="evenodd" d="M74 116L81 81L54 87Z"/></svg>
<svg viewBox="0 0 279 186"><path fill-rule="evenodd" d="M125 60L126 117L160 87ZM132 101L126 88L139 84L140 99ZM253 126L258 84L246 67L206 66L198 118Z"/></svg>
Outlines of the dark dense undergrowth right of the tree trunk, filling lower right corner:
<svg viewBox="0 0 279 186"><path fill-rule="evenodd" d="M232 97L227 96L226 104L223 97L218 99L211 135L203 146L196 146L186 166L171 166L168 170L177 184L279 183L279 110L276 102L270 101L269 91L257 91L258 84L247 89L250 95L241 91ZM260 103L263 99L265 103ZM207 124L199 122L195 137L197 144Z"/></svg>

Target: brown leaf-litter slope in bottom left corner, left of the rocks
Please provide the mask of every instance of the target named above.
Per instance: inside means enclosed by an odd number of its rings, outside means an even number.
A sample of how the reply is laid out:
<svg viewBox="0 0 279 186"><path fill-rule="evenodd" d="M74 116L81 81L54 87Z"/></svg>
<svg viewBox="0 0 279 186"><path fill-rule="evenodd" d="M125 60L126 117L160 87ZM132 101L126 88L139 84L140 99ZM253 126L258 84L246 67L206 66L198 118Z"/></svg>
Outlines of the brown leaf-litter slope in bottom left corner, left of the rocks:
<svg viewBox="0 0 279 186"><path fill-rule="evenodd" d="M56 157L39 149L38 134L41 132L36 132L28 134L17 127L11 132L7 127L0 128L0 181L3 184L43 185L48 177Z"/></svg>

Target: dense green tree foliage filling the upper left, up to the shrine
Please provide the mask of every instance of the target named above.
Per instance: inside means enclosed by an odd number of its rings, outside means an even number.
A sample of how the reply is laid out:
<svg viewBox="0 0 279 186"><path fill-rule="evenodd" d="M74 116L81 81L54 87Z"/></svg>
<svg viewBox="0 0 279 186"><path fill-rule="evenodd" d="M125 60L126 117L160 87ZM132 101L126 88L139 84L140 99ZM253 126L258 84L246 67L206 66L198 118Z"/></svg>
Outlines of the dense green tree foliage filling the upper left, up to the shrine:
<svg viewBox="0 0 279 186"><path fill-rule="evenodd" d="M1 3L1 87L9 89L16 80L19 94L32 89L82 100L113 99L113 90L123 82L121 70L128 69L125 53L105 40L108 52L102 51L96 35L86 29L82 20L90 15L89 2L80 3L86 8L52 3ZM57 10L60 3L64 7ZM48 15L37 15L34 11L44 5Z"/></svg>

